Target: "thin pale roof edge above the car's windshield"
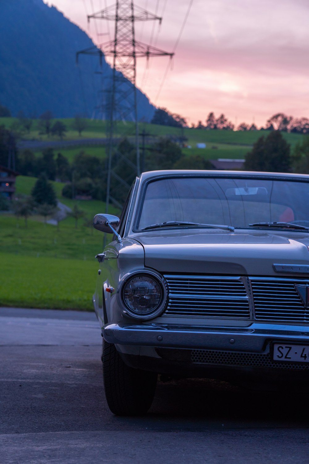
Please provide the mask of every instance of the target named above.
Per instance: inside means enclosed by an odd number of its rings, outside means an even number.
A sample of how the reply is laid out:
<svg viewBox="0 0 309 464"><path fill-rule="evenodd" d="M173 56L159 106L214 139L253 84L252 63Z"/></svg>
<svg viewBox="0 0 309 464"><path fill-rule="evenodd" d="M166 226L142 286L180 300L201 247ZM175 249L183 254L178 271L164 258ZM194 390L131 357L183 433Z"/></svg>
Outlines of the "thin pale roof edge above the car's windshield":
<svg viewBox="0 0 309 464"><path fill-rule="evenodd" d="M147 171L140 174L139 179L145 181L148 179L158 179L160 177L186 177L186 176L206 176L206 177L244 177L244 178L263 178L263 179L278 179L278 180L308 180L308 174L292 174L292 173L273 173L260 171L217 171L217 170L190 170L190 169L166 169L162 171Z"/></svg>

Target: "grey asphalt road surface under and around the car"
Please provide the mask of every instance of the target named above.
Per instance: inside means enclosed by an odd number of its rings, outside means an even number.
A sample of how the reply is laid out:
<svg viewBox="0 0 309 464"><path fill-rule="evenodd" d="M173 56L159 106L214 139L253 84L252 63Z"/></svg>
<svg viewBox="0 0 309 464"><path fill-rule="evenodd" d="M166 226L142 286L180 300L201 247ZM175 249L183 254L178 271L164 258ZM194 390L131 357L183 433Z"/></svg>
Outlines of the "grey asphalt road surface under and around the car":
<svg viewBox="0 0 309 464"><path fill-rule="evenodd" d="M92 313L0 308L0 463L309 463L308 395L159 382L120 418Z"/></svg>

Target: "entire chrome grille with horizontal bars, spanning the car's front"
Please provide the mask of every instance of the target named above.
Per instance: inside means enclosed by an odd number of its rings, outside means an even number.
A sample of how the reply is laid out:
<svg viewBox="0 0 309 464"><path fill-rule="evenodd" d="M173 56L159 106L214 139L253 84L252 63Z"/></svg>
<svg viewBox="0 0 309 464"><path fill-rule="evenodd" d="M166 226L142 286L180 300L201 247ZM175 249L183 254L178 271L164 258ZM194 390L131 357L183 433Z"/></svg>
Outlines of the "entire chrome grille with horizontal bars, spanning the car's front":
<svg viewBox="0 0 309 464"><path fill-rule="evenodd" d="M295 288L309 285L309 279L168 274L164 278L169 289L164 315L309 322L309 308Z"/></svg>

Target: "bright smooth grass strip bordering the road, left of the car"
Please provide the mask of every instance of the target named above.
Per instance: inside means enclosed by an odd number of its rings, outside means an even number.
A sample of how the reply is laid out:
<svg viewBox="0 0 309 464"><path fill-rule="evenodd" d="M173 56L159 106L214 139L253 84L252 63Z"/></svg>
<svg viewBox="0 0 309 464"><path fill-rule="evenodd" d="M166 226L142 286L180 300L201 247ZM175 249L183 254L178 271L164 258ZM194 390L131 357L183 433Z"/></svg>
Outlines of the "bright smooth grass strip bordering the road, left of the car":
<svg viewBox="0 0 309 464"><path fill-rule="evenodd" d="M93 310L96 260L1 253L1 306Z"/></svg>

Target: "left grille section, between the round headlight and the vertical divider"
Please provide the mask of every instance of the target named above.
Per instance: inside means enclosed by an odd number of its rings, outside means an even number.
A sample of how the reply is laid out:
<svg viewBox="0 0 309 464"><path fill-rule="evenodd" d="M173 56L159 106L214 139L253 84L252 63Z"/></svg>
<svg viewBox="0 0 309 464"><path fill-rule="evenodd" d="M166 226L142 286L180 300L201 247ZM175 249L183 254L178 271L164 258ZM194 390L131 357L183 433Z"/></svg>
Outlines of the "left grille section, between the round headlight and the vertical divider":
<svg viewBox="0 0 309 464"><path fill-rule="evenodd" d="M166 315L249 318L240 277L164 275L169 289Z"/></svg>

